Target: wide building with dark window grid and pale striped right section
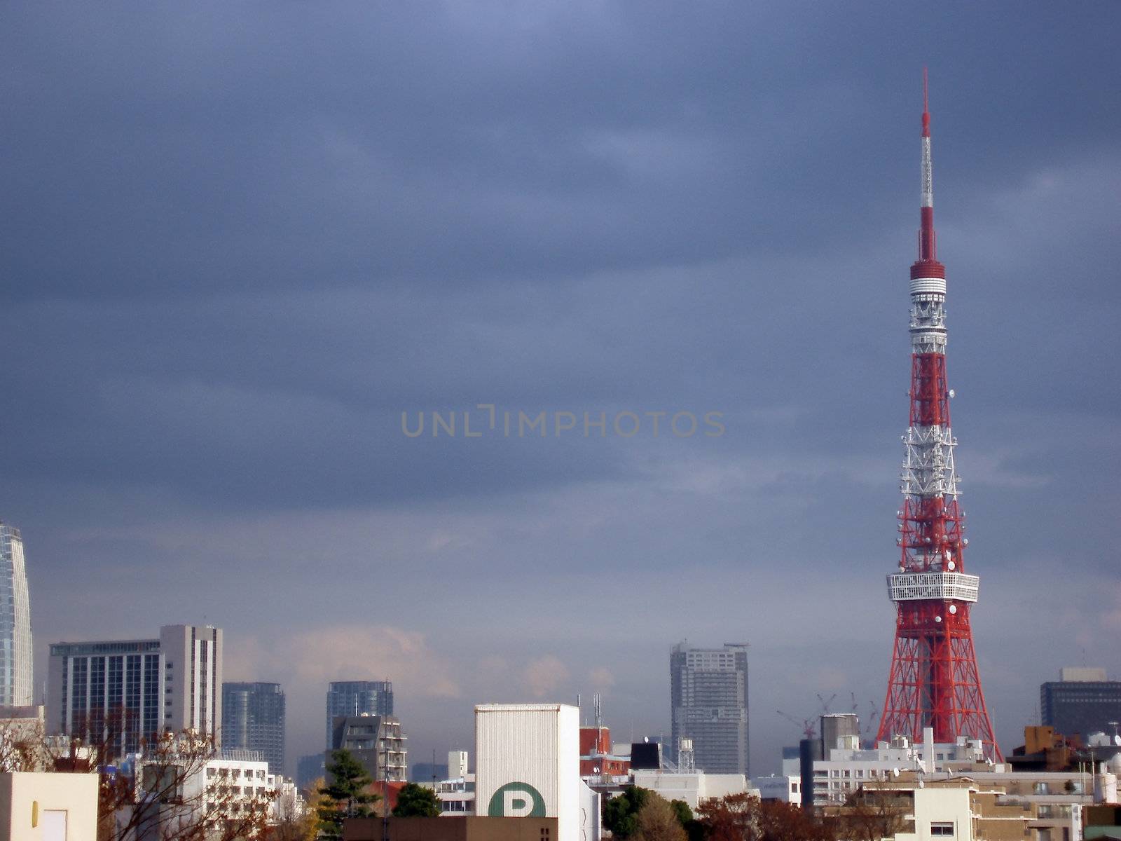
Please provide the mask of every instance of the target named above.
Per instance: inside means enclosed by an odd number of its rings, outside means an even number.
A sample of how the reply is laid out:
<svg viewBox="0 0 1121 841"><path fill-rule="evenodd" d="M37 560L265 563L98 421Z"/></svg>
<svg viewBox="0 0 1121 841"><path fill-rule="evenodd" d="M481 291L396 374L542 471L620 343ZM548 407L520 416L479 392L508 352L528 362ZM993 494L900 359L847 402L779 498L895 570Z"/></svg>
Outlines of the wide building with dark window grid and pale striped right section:
<svg viewBox="0 0 1121 841"><path fill-rule="evenodd" d="M157 639L55 643L47 730L105 740L114 756L141 738L192 729L221 745L222 630L165 625Z"/></svg>

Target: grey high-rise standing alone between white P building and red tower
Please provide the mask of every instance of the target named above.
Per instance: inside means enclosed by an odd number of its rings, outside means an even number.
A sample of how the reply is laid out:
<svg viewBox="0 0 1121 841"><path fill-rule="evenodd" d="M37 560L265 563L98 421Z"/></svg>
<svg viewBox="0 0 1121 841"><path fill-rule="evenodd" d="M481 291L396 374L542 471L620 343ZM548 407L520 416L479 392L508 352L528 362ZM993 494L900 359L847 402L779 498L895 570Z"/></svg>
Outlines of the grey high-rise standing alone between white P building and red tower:
<svg viewBox="0 0 1121 841"><path fill-rule="evenodd" d="M682 739L692 739L698 769L750 776L748 646L674 646L669 655L669 693L670 755L676 757Z"/></svg>

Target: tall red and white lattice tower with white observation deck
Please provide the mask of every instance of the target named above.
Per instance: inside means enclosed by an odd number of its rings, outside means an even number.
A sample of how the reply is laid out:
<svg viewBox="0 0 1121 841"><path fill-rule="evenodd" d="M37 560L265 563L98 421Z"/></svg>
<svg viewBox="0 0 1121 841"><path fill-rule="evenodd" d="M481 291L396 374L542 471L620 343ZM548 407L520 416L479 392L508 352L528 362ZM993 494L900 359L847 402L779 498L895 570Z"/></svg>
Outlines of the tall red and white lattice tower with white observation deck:
<svg viewBox="0 0 1121 841"><path fill-rule="evenodd" d="M923 728L936 742L958 737L983 742L1000 759L981 692L970 610L976 575L965 574L958 475L949 428L946 385L946 268L935 253L930 177L930 112L923 75L923 202L918 260L910 270L910 424L904 440L904 507L899 511L899 572L888 576L898 611L891 676L877 740L906 736L918 742Z"/></svg>

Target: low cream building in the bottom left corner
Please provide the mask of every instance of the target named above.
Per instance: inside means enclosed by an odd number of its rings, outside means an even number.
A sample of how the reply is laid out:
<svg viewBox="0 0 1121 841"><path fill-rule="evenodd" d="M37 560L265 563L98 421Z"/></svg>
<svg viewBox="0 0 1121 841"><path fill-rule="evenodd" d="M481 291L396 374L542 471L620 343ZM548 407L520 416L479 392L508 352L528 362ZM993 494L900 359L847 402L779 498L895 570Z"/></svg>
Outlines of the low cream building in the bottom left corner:
<svg viewBox="0 0 1121 841"><path fill-rule="evenodd" d="M0 841L96 839L96 774L0 774Z"/></svg>

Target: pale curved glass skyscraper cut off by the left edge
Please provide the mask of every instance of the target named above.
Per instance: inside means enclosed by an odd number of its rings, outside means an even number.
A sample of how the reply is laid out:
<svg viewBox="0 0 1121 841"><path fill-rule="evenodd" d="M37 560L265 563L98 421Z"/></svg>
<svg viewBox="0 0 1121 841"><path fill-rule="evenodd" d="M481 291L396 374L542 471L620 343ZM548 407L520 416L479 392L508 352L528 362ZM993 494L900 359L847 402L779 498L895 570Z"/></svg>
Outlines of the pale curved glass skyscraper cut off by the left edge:
<svg viewBox="0 0 1121 841"><path fill-rule="evenodd" d="M0 706L29 706L33 685L24 539L0 521Z"/></svg>

